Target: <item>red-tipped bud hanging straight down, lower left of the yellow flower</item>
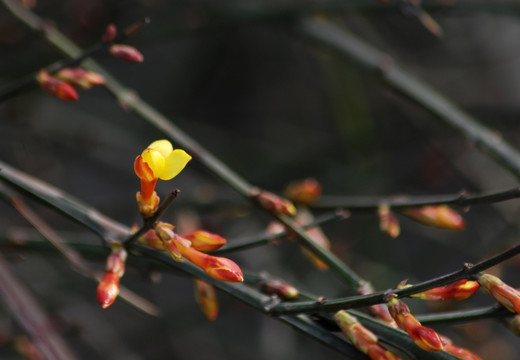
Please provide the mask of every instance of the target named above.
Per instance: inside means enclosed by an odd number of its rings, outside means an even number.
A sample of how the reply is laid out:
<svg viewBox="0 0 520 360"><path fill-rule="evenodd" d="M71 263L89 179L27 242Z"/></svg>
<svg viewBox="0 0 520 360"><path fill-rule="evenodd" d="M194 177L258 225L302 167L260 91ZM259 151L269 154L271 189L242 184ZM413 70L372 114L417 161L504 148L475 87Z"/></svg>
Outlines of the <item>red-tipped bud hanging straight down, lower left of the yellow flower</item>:
<svg viewBox="0 0 520 360"><path fill-rule="evenodd" d="M114 303L119 295L119 280L125 273L127 253L122 244L112 244L112 252L107 258L105 275L97 287L97 300L103 309Z"/></svg>

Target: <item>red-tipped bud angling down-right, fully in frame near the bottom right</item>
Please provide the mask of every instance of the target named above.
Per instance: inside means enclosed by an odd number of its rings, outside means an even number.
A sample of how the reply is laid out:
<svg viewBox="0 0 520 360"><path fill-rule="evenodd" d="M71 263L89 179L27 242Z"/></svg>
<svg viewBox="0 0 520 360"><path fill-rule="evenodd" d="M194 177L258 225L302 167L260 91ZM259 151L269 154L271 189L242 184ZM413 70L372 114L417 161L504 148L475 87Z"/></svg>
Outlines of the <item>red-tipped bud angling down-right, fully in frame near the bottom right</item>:
<svg viewBox="0 0 520 360"><path fill-rule="evenodd" d="M421 325L419 320L412 315L408 306L397 298L397 295L390 295L386 304L397 326L406 331L417 346L426 351L439 351L444 348L439 334L435 330Z"/></svg>

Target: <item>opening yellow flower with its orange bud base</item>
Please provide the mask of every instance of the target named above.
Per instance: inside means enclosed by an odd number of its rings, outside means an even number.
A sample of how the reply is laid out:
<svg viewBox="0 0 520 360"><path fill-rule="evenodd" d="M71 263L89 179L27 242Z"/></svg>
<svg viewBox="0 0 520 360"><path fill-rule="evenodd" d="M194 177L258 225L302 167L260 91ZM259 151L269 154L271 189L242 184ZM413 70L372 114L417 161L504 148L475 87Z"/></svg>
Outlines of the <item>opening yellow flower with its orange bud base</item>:
<svg viewBox="0 0 520 360"><path fill-rule="evenodd" d="M177 176L191 156L184 150L173 149L168 140L151 143L134 161L134 171L141 180L141 191L137 193L139 212L148 218L159 205L155 185L159 179L170 180Z"/></svg>

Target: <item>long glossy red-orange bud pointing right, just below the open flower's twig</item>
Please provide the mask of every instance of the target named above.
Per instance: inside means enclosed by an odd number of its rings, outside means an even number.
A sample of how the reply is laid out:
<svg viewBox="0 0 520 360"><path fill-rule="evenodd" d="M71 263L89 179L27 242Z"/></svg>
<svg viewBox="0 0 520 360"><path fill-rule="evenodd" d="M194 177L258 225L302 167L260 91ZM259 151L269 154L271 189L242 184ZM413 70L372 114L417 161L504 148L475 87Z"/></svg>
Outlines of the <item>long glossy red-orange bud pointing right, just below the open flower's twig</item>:
<svg viewBox="0 0 520 360"><path fill-rule="evenodd" d="M244 275L240 267L232 260L205 254L192 247L177 246L186 259L204 270L209 276L219 281L242 282Z"/></svg>

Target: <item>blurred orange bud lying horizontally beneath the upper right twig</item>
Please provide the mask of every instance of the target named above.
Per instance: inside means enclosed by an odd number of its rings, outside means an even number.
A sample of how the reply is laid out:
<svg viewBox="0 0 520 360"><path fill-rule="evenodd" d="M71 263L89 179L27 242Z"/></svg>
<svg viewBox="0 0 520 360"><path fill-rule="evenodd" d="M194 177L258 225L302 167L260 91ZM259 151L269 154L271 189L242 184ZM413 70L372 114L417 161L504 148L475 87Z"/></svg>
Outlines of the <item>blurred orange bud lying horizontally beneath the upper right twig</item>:
<svg viewBox="0 0 520 360"><path fill-rule="evenodd" d="M446 230L463 230L466 223L462 216L447 205L430 205L408 208L403 214L424 225Z"/></svg>

